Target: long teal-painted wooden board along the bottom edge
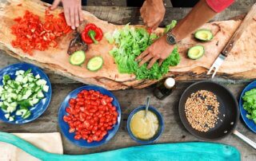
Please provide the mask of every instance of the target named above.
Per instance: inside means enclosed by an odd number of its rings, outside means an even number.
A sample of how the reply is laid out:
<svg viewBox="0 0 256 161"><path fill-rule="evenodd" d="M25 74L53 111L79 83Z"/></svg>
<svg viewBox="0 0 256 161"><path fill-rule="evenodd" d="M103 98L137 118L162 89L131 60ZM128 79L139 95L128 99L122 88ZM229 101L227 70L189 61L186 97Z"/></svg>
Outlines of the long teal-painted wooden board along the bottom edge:
<svg viewBox="0 0 256 161"><path fill-rule="evenodd" d="M0 141L11 143L34 157L47 161L72 160L118 160L118 161L237 161L240 153L235 147L219 143L163 143L127 147L114 151L95 153L90 155L56 155L34 147L34 145L6 132L0 132Z"/></svg>

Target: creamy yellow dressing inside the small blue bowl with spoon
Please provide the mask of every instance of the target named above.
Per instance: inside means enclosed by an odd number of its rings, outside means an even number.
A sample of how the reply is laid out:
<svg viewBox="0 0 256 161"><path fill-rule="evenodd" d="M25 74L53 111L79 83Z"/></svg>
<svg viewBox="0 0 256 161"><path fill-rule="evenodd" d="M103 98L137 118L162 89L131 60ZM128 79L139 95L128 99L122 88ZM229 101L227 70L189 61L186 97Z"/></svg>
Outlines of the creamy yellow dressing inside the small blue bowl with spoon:
<svg viewBox="0 0 256 161"><path fill-rule="evenodd" d="M130 120L130 130L138 139L151 139L158 132L158 116L148 111L146 118L145 110L136 112Z"/></svg>

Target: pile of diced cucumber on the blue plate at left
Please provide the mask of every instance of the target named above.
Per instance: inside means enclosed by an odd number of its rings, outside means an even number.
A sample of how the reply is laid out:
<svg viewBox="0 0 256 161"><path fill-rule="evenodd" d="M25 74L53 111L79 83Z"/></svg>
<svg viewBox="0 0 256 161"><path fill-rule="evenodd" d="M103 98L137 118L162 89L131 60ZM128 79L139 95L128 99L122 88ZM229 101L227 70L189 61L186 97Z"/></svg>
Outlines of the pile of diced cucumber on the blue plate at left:
<svg viewBox="0 0 256 161"><path fill-rule="evenodd" d="M43 92L48 92L50 88L40 75L34 77L31 69L26 72L18 70L15 75L13 80L10 75L3 76L3 85L0 86L0 108L10 121L14 121L15 116L10 116L13 112L23 119L30 117L29 108L38 104L45 97Z"/></svg>

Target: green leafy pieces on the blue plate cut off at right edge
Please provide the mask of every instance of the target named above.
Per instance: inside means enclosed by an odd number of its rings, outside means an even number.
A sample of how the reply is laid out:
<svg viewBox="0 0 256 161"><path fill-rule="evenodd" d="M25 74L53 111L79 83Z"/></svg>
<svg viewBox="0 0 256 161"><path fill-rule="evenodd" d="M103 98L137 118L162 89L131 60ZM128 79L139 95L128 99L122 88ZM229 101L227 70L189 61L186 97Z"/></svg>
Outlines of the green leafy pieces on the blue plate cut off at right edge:
<svg viewBox="0 0 256 161"><path fill-rule="evenodd" d="M250 120L254 120L256 124L256 88L247 91L244 96L242 96L244 103L243 108L248 112L246 117Z"/></svg>

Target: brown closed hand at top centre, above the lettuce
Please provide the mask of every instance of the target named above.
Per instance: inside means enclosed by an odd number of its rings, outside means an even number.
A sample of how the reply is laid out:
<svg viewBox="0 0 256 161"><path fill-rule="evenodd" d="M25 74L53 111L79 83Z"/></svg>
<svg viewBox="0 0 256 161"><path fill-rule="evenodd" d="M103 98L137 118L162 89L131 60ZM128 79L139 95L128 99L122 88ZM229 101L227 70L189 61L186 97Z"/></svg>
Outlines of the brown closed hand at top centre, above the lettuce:
<svg viewBox="0 0 256 161"><path fill-rule="evenodd" d="M162 0L146 0L140 12L145 25L157 29L165 16L166 8Z"/></svg>

